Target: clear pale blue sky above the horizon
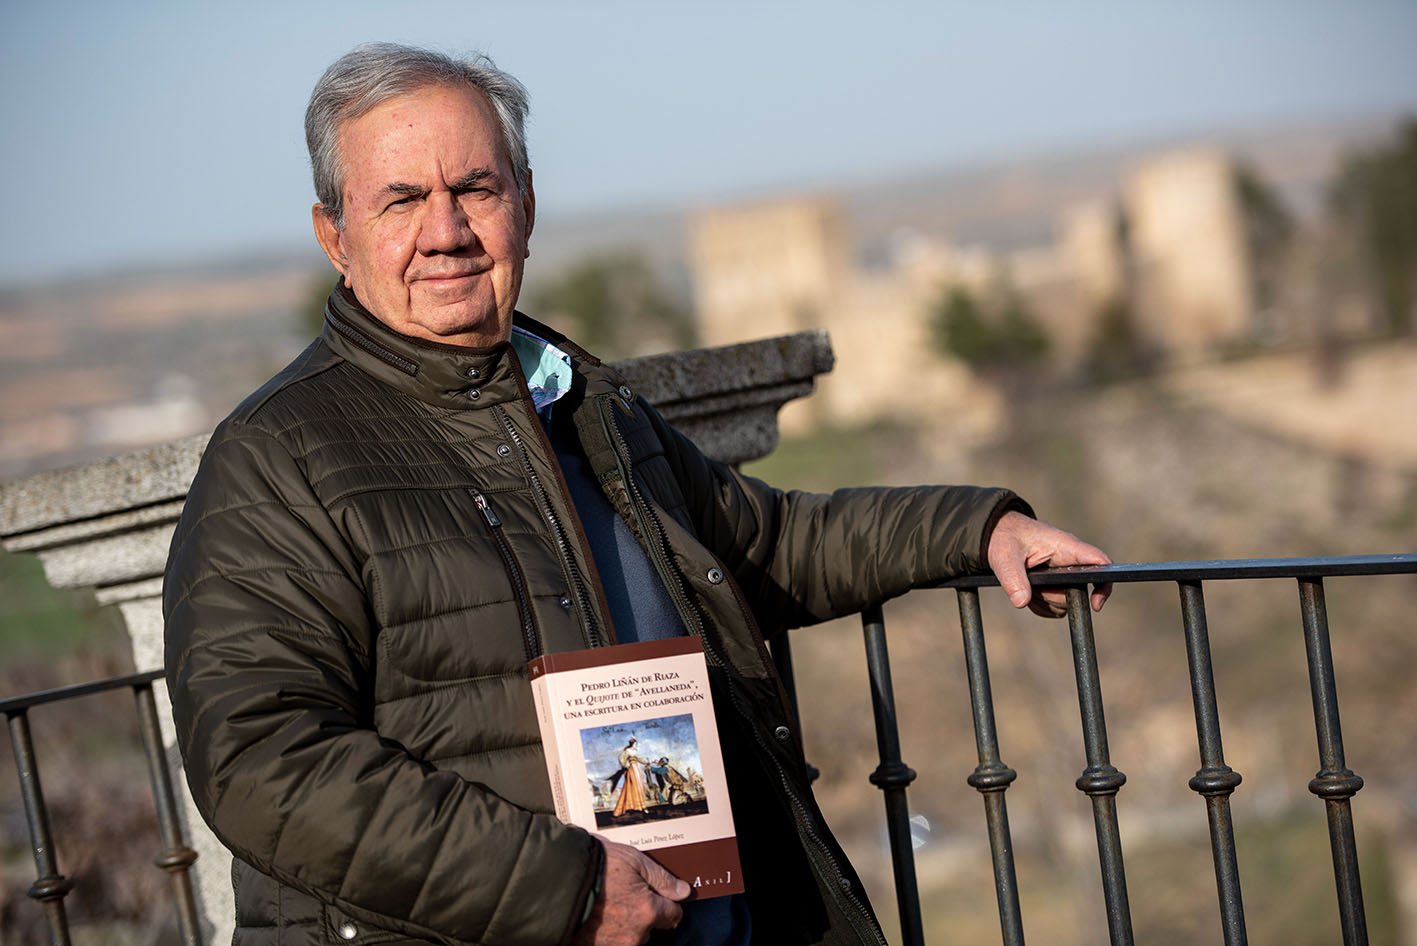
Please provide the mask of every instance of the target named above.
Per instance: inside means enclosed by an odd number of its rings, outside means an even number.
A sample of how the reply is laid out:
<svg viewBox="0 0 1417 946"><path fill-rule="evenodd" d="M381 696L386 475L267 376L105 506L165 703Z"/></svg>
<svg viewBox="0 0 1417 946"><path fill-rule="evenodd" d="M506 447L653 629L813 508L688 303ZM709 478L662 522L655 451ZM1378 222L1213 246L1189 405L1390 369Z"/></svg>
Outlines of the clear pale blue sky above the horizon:
<svg viewBox="0 0 1417 946"><path fill-rule="evenodd" d="M1417 112L1411 0L0 0L0 286L313 252L305 102L371 40L529 86L543 224Z"/></svg>

